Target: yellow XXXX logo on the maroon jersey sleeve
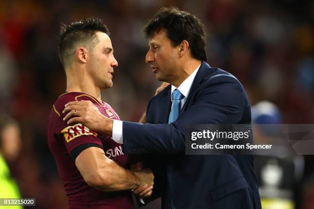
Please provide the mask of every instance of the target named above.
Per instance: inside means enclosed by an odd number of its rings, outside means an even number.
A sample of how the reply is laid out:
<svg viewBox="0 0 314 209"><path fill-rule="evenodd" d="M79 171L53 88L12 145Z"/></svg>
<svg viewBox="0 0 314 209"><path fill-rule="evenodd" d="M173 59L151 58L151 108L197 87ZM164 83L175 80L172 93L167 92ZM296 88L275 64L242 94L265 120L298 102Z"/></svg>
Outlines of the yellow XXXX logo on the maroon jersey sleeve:
<svg viewBox="0 0 314 209"><path fill-rule="evenodd" d="M82 135L97 136L97 133L90 130L89 128L84 126L82 123L76 123L74 126L68 126L64 130L62 130L61 133L63 134L63 136L67 142L75 139L78 136L82 136Z"/></svg>

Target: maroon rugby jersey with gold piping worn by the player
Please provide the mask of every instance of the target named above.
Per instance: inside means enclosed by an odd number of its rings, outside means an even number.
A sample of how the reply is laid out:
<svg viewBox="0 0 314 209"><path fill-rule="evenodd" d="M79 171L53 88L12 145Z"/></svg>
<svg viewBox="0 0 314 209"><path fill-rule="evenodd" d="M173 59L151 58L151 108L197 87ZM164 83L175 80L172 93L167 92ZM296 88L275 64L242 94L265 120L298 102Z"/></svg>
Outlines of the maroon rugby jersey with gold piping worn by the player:
<svg viewBox="0 0 314 209"><path fill-rule="evenodd" d="M88 147L102 148L106 156L127 169L128 156L122 152L122 146L110 136L95 133L81 123L68 125L63 118L64 105L74 100L90 100L108 118L120 119L114 110L105 102L94 97L70 92L61 95L54 103L49 118L48 145L52 152L65 191L69 208L133 208L130 191L102 192L89 186L75 166L75 158Z"/></svg>

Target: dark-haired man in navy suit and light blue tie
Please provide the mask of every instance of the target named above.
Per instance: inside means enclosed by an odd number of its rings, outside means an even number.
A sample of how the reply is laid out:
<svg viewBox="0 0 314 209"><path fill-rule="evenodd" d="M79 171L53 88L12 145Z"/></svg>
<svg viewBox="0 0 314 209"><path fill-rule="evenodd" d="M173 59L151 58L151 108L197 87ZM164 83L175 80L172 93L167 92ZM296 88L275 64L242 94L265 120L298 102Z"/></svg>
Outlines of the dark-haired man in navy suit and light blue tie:
<svg viewBox="0 0 314 209"><path fill-rule="evenodd" d="M162 196L163 208L261 208L251 155L185 155L189 125L251 122L239 80L205 62L204 25L188 12L162 8L145 33L146 62L171 84L150 100L147 123L105 118L84 101L69 102L65 119L111 135L124 153L153 153L153 196Z"/></svg>

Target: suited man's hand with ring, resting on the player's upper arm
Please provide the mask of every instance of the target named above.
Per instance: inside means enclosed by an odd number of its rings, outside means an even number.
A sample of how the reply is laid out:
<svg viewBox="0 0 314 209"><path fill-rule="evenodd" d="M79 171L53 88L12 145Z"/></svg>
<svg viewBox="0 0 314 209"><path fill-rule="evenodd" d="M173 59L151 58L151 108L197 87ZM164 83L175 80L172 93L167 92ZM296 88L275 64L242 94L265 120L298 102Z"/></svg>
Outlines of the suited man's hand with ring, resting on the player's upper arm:
<svg viewBox="0 0 314 209"><path fill-rule="evenodd" d="M91 101L70 101L62 113L67 113L63 120L71 123L83 123L90 130L112 136L113 120L106 118Z"/></svg>

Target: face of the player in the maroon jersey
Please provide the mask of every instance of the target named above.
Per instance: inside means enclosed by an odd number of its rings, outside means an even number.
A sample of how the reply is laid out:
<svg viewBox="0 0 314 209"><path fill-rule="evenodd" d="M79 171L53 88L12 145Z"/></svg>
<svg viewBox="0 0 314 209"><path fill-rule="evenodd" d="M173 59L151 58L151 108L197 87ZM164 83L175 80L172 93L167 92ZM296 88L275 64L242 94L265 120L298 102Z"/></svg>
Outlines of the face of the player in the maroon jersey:
<svg viewBox="0 0 314 209"><path fill-rule="evenodd" d="M91 49L89 60L89 73L94 80L95 86L106 89L111 88L113 67L118 65L113 56L113 48L109 36L104 32L96 32L99 38L93 49Z"/></svg>

